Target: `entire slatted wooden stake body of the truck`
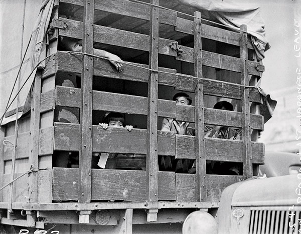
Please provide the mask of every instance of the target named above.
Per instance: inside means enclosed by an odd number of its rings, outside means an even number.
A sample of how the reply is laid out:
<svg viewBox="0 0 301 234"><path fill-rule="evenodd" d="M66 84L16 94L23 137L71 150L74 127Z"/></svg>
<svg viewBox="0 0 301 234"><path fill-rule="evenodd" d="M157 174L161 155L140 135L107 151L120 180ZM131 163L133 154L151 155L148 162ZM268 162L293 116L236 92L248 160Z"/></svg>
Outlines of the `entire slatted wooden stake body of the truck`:
<svg viewBox="0 0 301 234"><path fill-rule="evenodd" d="M121 2L123 8L113 7ZM38 156L52 156L55 151L76 151L79 152L79 168L53 167L32 173L31 202L75 201L78 202L77 207L82 207L82 204L88 204L91 200L127 200L136 202L127 207L122 206L127 208L129 219L132 217L132 208L139 207L147 210L147 221L156 221L158 209L164 208L161 202L171 202L169 207L172 208L178 207L177 202L183 207L209 207L209 202L219 201L226 186L251 177L253 163L263 163L264 145L251 141L251 130L263 130L263 118L256 112L250 113L250 102L256 105L261 103L261 98L256 88L245 87L249 85L249 75L261 74L256 69L260 62L248 60L247 51L252 50L252 45L244 32L246 28L242 26L241 33L216 28L201 23L199 12L195 12L194 20L188 20L178 17L173 11L156 7L159 0L152 2L155 6L128 0L72 0L71 4L83 6L83 22L60 18L67 22L68 27L57 29L52 41L56 41L59 36L83 39L83 52L89 54L93 53L93 42L137 49L142 53L149 53L149 62L148 65L125 63L124 71L118 72L107 60L49 48L53 55L47 59L45 71L41 75L42 90L35 91L31 133L26 131L19 135L22 144L17 148L17 159L26 159L28 156L25 154L31 155L30 164L38 167ZM60 3L69 4L70 1L60 0ZM149 21L149 35L96 25L93 22L94 9L134 17L145 21L145 25ZM58 17L58 9L56 13ZM159 37L159 23L175 26L177 32L194 35L194 47L181 45L183 52L178 54L169 46L169 43L176 42L175 39ZM240 46L240 58L203 50L202 38ZM57 44L53 43L52 46L56 47ZM159 67L159 55L194 63L194 74L186 75L176 69ZM240 72L242 85L203 77L203 66ZM57 76L71 72L81 75L81 88L56 84ZM147 97L93 90L93 76L111 78L114 82L122 80L147 84ZM46 83L46 80L52 80L52 86L44 91L43 82ZM158 98L158 85L192 92L195 105L176 105L175 101ZM37 86L41 87L41 83ZM241 101L242 111L204 107L204 95ZM80 109L80 123L59 122L53 114L59 108ZM147 129L134 128L131 132L118 128L104 130L98 125L92 125L92 111L147 115ZM44 126L42 116L51 119L51 126ZM195 122L196 135L160 131L158 117ZM40 120L41 128L37 127ZM205 124L241 127L243 139L205 137ZM5 139L12 137L4 136ZM27 147L28 143L35 145L33 152ZM27 153L22 154L24 149ZM8 162L12 157L12 150L7 147L2 150L4 163ZM146 171L92 169L92 151L146 155ZM195 159L196 174L158 171L158 155ZM241 163L243 176L206 174L206 160ZM8 180L8 176L4 175L4 181ZM20 181L15 194L27 189L24 180ZM25 202L25 197L15 197L14 202L17 201ZM79 209L79 221L88 223L91 210ZM30 209L27 214L28 222L33 223L35 214ZM130 223L128 228L131 228Z"/></svg>

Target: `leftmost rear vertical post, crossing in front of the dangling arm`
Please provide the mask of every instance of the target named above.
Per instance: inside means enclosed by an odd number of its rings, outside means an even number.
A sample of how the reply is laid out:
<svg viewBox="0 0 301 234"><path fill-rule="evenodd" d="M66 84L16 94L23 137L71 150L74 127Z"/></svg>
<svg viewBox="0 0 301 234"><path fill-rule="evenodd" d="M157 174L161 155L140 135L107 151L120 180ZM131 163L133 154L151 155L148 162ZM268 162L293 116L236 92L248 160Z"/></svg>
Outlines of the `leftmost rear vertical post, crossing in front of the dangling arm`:
<svg viewBox="0 0 301 234"><path fill-rule="evenodd" d="M84 1L83 52L93 53L94 0ZM93 58L84 55L81 77L78 202L91 200Z"/></svg>

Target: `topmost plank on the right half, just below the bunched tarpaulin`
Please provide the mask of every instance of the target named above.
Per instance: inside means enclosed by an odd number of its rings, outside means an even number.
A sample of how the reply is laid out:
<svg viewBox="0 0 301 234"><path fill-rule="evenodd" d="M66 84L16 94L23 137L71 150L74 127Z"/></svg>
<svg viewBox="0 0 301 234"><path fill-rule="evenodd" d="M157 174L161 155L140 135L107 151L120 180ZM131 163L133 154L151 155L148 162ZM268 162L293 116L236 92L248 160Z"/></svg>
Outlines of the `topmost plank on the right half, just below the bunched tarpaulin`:
<svg viewBox="0 0 301 234"><path fill-rule="evenodd" d="M193 34L193 21L177 17L177 26L175 27L175 30L187 34ZM202 23L202 37L204 38L239 46L239 36L238 32ZM248 48L254 49L250 40L248 40Z"/></svg>

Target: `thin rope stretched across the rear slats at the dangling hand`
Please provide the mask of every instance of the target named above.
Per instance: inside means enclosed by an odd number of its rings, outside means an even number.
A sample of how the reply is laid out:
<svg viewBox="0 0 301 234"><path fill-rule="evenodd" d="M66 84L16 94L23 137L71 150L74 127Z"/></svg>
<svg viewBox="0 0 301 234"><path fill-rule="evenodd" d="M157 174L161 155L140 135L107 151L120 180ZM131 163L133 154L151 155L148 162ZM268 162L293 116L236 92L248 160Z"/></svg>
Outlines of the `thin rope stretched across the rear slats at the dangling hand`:
<svg viewBox="0 0 301 234"><path fill-rule="evenodd" d="M73 51L65 51L65 52L68 52L68 53L71 53L71 54L83 54L83 55L89 55L91 57L96 57L96 58L101 58L101 59L105 59L105 60L109 60L109 61L114 61L114 62L119 62L119 63L122 63L122 64L127 64L127 65L130 65L130 66L134 66L134 67L139 67L141 69L145 69L145 70L149 70L149 71L153 71L153 72L160 72L160 73L165 73L165 74L176 74L176 73L173 73L173 72L168 72L168 71L163 71L163 70L155 70L155 69L150 69L150 68L147 68L147 67L143 67L143 66L139 66L139 65L135 65L131 62L126 62L126 61L117 61L117 60L113 60L113 59L109 59L109 58L106 58L106 57L101 57L101 56L97 56L97 55L94 55L94 54L91 54L91 53L84 53L84 52L73 52ZM181 76L185 76L185 77L195 77L195 76L191 76L191 75L187 75L187 74L182 74L181 73ZM200 77L195 77L197 79L201 79L201 80L208 80L208 81L212 81L214 79L209 79L209 78L200 78ZM244 88L257 88L257 86L252 86L252 85L243 85L243 84L239 84L239 83L231 83L231 82L227 82L227 81L223 81L223 80L218 80L218 82L220 83L225 83L225 84L230 84L230 85L238 85L240 87L244 87Z"/></svg>

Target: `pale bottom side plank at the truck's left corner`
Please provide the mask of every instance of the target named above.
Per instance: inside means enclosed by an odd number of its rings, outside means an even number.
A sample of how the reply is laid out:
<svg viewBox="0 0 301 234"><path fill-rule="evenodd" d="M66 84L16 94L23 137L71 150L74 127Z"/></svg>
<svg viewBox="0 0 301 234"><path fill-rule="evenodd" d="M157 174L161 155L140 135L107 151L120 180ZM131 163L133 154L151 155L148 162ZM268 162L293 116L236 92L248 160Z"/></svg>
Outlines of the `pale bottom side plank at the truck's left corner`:
<svg viewBox="0 0 301 234"><path fill-rule="evenodd" d="M52 202L52 170L39 170L37 202Z"/></svg>

